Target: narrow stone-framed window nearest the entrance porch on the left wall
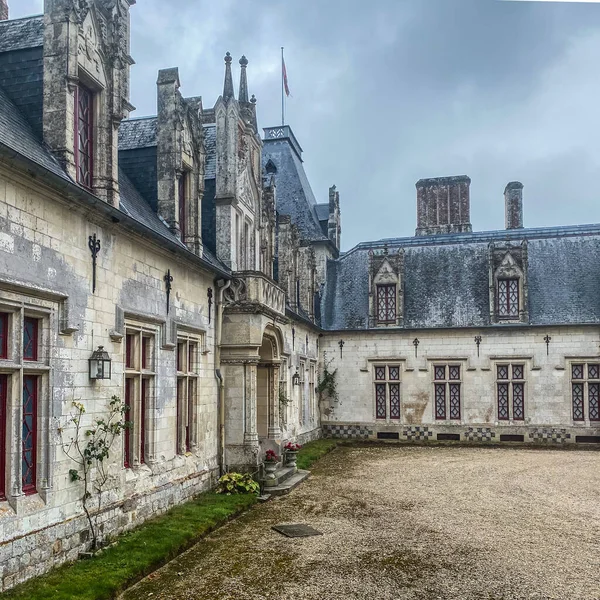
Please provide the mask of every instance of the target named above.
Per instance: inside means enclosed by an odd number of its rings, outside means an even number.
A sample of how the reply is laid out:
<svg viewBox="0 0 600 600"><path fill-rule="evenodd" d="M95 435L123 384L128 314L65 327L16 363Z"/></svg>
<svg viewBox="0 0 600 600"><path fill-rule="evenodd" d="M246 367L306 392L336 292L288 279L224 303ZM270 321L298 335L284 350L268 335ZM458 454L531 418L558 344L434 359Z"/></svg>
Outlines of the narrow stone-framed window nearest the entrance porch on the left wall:
<svg viewBox="0 0 600 600"><path fill-rule="evenodd" d="M187 455L198 448L198 409L201 393L201 356L204 352L204 335L177 329L175 349L176 410L175 453ZM190 358L191 357L191 358ZM190 369L190 362L192 368ZM184 366L182 369L181 366ZM193 394L190 394L190 389ZM190 402L190 395L192 396Z"/></svg>

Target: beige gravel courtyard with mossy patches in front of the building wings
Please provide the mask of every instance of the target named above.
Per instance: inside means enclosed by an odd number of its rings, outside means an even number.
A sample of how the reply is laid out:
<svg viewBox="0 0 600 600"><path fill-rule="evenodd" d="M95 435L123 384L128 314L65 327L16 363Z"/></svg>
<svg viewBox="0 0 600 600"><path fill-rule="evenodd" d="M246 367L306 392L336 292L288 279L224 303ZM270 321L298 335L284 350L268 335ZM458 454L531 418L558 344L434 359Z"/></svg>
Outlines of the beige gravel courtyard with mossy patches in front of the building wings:
<svg viewBox="0 0 600 600"><path fill-rule="evenodd" d="M340 448L123 599L598 599L599 493L594 451Z"/></svg>

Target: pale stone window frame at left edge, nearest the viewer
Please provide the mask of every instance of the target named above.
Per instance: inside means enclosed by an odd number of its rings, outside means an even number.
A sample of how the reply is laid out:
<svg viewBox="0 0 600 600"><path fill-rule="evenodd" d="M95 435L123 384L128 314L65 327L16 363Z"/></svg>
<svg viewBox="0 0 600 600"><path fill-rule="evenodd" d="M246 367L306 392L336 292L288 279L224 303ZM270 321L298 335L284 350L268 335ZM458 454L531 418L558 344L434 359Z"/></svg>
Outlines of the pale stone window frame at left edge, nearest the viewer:
<svg viewBox="0 0 600 600"><path fill-rule="evenodd" d="M53 448L50 445L50 389L52 372L51 348L56 344L58 329L58 306L52 300L32 298L27 294L4 291L0 297L0 313L6 315L8 325L6 353L0 357L0 375L4 385L4 408L2 415L4 429L4 494L0 498L17 513L27 496L39 497L47 502L53 473ZM25 319L35 319L36 353L32 358L24 357ZM34 482L27 489L23 485L23 381L25 377L36 378L34 405L33 452ZM1 453L0 453L1 454Z"/></svg>

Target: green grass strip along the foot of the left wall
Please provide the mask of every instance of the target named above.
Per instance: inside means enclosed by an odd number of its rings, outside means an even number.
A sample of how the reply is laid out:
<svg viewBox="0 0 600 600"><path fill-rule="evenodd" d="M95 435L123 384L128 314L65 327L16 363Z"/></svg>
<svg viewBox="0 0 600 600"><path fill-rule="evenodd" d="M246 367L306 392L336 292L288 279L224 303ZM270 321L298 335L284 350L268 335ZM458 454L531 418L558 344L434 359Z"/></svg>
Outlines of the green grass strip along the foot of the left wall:
<svg viewBox="0 0 600 600"><path fill-rule="evenodd" d="M256 502L252 494L201 494L89 560L53 569L2 594L3 600L109 600Z"/></svg>

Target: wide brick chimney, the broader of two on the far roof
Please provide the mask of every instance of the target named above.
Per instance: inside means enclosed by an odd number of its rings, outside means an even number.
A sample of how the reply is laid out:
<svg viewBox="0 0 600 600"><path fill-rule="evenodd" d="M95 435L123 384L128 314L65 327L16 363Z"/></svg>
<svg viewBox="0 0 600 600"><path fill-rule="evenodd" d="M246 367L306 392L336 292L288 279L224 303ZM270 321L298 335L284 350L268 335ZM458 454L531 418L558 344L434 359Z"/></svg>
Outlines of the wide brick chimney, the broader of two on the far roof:
<svg viewBox="0 0 600 600"><path fill-rule="evenodd" d="M470 233L470 185L466 175L417 181L415 235Z"/></svg>

